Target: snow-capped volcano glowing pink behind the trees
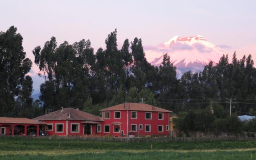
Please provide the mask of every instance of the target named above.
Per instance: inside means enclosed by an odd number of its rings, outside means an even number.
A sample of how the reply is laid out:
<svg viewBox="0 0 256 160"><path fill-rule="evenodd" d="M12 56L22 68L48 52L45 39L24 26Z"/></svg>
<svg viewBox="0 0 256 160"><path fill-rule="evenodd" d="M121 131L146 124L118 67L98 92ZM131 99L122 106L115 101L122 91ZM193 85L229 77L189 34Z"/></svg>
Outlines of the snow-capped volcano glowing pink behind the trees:
<svg viewBox="0 0 256 160"><path fill-rule="evenodd" d="M164 44L145 46L145 53L148 62L155 66L162 63L163 55L167 53L178 72L179 70L201 71L210 61L216 64L223 54L227 54L225 50L208 42L203 36L174 36Z"/></svg>

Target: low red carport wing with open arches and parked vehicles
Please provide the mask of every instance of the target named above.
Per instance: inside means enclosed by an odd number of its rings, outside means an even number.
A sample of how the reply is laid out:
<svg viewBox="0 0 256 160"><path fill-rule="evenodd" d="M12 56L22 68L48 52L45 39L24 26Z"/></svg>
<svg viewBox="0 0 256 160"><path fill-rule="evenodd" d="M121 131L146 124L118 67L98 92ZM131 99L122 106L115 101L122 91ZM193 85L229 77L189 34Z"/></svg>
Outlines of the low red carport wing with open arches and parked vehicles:
<svg viewBox="0 0 256 160"><path fill-rule="evenodd" d="M46 123L30 120L28 118L0 117L0 134L5 135L27 135L29 132L44 130Z"/></svg>

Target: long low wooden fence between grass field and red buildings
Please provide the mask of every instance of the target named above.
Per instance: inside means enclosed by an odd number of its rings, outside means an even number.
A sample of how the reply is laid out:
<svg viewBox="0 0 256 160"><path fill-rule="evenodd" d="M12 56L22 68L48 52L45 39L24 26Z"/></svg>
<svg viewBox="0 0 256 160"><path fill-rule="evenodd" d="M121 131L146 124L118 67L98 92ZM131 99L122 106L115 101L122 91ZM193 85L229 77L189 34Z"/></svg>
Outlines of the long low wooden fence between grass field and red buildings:
<svg viewBox="0 0 256 160"><path fill-rule="evenodd" d="M80 137L80 136L11 136L0 135L0 138L29 138L29 139L45 139L45 140L83 140L83 141L106 141L106 142L196 142L196 141L256 141L256 138L246 137Z"/></svg>

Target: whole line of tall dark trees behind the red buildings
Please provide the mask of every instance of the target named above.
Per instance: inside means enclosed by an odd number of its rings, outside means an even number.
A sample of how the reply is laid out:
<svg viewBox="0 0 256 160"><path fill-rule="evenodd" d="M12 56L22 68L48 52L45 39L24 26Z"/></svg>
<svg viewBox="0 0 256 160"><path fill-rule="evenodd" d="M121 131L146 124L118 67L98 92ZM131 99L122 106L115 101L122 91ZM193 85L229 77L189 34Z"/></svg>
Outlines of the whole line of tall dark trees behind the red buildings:
<svg viewBox="0 0 256 160"><path fill-rule="evenodd" d="M106 48L96 51L84 39L58 45L52 37L44 46L35 46L33 61L44 82L40 101L33 102L33 82L28 76L32 60L26 58L22 40L14 26L0 32L0 116L33 118L62 106L100 115L101 108L141 98L176 114L201 112L210 106L226 112L227 98L232 98L232 113L256 114L256 69L251 55L238 60L235 52L231 63L223 55L216 65L210 62L201 72L189 71L177 79L167 54L160 66L146 60L140 38L124 40L119 50L116 30L106 37Z"/></svg>

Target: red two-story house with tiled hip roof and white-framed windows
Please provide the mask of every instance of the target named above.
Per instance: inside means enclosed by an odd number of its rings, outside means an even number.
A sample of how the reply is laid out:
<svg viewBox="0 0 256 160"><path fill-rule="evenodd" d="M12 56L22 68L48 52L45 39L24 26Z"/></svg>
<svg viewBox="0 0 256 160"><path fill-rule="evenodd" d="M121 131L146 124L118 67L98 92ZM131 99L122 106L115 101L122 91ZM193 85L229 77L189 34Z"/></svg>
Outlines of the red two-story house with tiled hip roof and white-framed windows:
<svg viewBox="0 0 256 160"><path fill-rule="evenodd" d="M102 135L168 135L171 111L142 103L123 103L100 110L104 122L98 124Z"/></svg>

